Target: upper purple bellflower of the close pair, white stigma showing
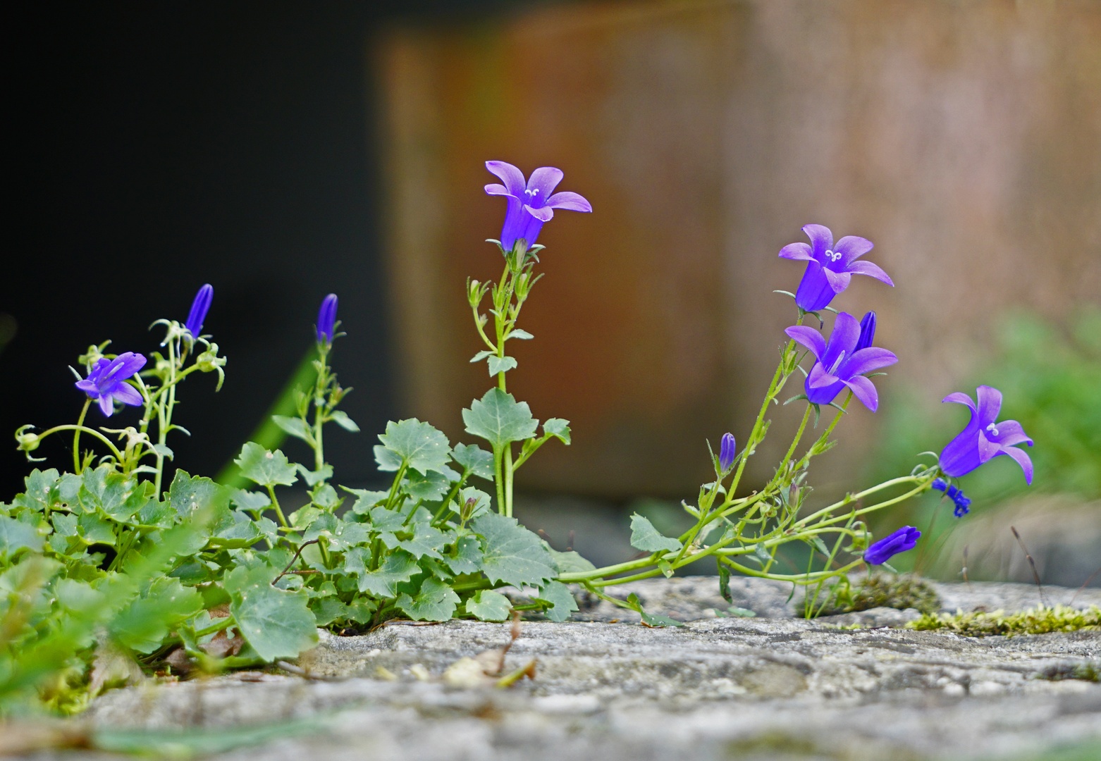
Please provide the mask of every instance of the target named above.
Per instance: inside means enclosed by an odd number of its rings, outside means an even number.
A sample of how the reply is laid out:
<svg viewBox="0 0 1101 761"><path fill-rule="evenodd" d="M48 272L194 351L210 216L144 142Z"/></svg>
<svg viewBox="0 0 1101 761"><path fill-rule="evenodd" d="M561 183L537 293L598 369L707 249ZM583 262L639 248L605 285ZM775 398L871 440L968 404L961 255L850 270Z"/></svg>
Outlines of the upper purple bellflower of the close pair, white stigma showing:
<svg viewBox="0 0 1101 761"><path fill-rule="evenodd" d="M853 274L871 275L894 286L887 273L871 262L858 261L872 250L872 241L846 236L833 244L833 233L822 225L805 225L803 231L810 244L788 243L780 250L781 259L805 261L807 270L795 292L795 303L806 312L829 306L833 296L849 287Z"/></svg>

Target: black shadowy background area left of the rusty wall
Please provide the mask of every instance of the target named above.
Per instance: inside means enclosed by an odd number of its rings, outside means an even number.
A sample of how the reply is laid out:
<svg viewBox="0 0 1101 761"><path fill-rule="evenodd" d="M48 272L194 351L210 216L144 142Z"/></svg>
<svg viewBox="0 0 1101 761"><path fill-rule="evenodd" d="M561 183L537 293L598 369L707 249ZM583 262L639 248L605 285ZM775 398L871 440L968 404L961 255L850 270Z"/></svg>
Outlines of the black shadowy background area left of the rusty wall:
<svg viewBox="0 0 1101 761"><path fill-rule="evenodd" d="M204 330L226 383L181 388L175 465L214 475L308 349L317 307L340 297L334 365L355 387L334 432L342 482L369 482L394 414L380 256L374 32L402 17L447 23L492 2L26 4L9 13L9 181L0 314L0 432L75 422L66 365L88 345L156 350L215 287ZM110 427L134 425L128 407ZM92 425L105 424L95 410ZM366 441L370 439L370 441ZM33 467L0 446L0 494ZM36 452L64 467L70 438Z"/></svg>

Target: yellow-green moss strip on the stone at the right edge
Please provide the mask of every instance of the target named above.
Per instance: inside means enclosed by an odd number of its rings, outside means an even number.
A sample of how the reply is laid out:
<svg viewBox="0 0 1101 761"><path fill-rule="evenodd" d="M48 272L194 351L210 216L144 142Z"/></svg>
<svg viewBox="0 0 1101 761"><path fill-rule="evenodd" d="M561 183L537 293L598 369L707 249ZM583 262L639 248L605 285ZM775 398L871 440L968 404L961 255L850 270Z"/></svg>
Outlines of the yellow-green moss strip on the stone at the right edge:
<svg viewBox="0 0 1101 761"><path fill-rule="evenodd" d="M1101 608L1093 606L1078 610L1065 605L1054 608L1037 606L1006 615L1004 610L992 613L956 611L951 613L926 613L906 624L908 629L920 631L951 631L966 637L992 637L1014 634L1047 634L1053 631L1098 631L1101 630ZM1076 677L1079 678L1079 677Z"/></svg>

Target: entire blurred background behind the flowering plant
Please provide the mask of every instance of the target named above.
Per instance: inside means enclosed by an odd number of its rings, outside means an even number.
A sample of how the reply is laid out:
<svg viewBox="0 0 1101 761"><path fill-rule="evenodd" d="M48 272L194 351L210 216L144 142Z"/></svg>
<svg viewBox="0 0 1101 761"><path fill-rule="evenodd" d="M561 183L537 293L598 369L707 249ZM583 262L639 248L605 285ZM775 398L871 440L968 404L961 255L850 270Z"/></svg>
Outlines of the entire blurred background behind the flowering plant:
<svg viewBox="0 0 1101 761"><path fill-rule="evenodd" d="M510 391L571 421L521 471L517 514L597 563L633 554L639 511L675 532L709 460L749 434L819 222L875 242L838 308L879 313L900 362L814 500L908 472L967 420L939 400L1005 393L1036 479L1000 457L937 500L924 573L1078 586L1101 564L1101 3L862 0L35 4L9 29L8 251L0 431L76 416L89 344L149 352L159 317L215 286L205 330L227 380L193 378L176 465L215 474L312 340L321 297L363 432L326 453L381 482L371 446L417 416L468 441L490 384L466 304L492 280L504 204L488 159L554 165L591 215L544 228ZM798 393L793 389L791 394ZM785 395L791 395L785 394ZM746 489L802 414L777 407ZM119 415L122 424L137 416ZM112 424L116 421L112 418ZM287 448L294 453L294 445ZM63 463L64 442L39 453ZM10 498L29 465L4 447ZM901 558L900 558L901 559ZM699 568L713 573L713 567ZM1092 585L1101 585L1101 574Z"/></svg>

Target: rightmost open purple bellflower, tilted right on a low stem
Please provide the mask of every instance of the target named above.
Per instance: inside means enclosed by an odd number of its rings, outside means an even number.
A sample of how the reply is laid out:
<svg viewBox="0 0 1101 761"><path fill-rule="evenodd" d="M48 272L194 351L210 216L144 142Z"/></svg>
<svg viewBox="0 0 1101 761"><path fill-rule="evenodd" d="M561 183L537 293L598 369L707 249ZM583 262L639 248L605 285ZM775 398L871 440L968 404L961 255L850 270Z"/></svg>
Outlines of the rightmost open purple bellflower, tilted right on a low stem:
<svg viewBox="0 0 1101 761"><path fill-rule="evenodd" d="M1015 420L995 422L1002 411L1002 392L990 385L980 385L975 398L978 404L966 393L957 391L941 400L967 405L971 410L971 420L940 453L940 469L952 478L959 478L999 455L1009 455L1024 470L1025 481L1032 485L1032 458L1024 449L1013 446L1032 446L1032 438Z"/></svg>

